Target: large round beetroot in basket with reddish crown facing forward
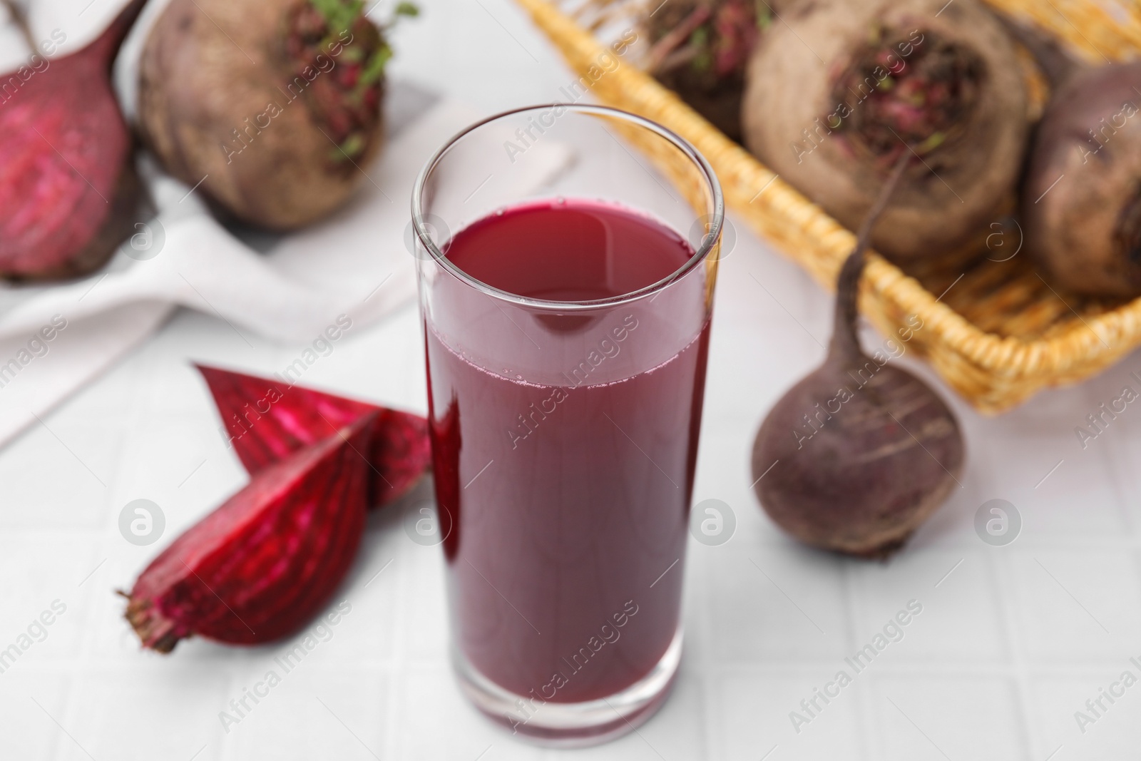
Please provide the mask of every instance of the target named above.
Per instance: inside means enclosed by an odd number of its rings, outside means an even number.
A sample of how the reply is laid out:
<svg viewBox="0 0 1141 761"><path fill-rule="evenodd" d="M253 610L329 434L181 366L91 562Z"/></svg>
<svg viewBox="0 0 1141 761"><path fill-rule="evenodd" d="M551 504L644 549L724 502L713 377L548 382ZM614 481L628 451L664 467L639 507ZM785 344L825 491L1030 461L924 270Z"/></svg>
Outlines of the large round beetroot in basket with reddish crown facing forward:
<svg viewBox="0 0 1141 761"><path fill-rule="evenodd" d="M745 145L855 229L895 159L922 161L872 235L897 260L954 250L1013 197L1028 132L1014 48L976 0L812 0L746 72Z"/></svg>

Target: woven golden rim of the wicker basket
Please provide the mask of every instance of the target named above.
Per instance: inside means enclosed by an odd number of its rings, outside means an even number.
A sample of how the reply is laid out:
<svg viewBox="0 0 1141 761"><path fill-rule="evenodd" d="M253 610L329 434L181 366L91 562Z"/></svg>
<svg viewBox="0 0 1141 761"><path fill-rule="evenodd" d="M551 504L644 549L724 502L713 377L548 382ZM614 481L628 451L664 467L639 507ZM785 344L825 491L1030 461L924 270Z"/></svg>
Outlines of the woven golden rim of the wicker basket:
<svg viewBox="0 0 1141 761"><path fill-rule="evenodd" d="M1052 23L1054 29L1051 31L1057 37L1063 37L1065 24L1049 18L1047 14L1061 14L1057 8L1058 5L1066 8L1075 5L1075 0L1053 0L1050 3L1053 9L1051 10L1044 8L1041 0L985 1L1012 16L1029 18L1039 25ZM1083 2L1083 0L1076 1ZM516 2L561 49L564 56L572 63L573 70L577 71L576 63L593 60L606 50L590 31L583 29L555 5L557 0L516 0ZM1106 42L1108 37L1111 37L1106 32L1109 29L1119 31L1117 38L1110 39L1112 48L1107 48L1115 57L1136 55L1141 50L1141 21L1133 18L1132 23L1118 29L1112 26L1115 21L1104 9L1089 2L1083 2L1082 7L1090 9L1089 13L1093 15L1095 22L1093 26L1101 30L1102 34L1098 37L1090 33L1090 37L1099 40L1099 44L1094 44L1081 29L1075 27L1077 38L1065 40L1070 47L1084 46L1086 57L1090 58L1095 56L1094 51L1106 57L1102 48L1109 44ZM1086 32L1089 31L1087 29ZM742 213L742 209L735 209L730 187L762 188L762 192L768 194L766 201L768 211L761 210L760 213L783 214L790 222L795 217L800 233L816 241L815 249L818 256L815 259L796 256L780 241L760 230L758 230L759 236L764 238L767 244L783 249L793 261L828 291L834 290L835 273L853 245L853 233L776 176L744 147L726 137L677 94L647 73L633 66L621 66L607 76L613 78L608 87L615 92L621 92L625 100L604 102L649 119L655 116L646 113L647 111L669 110L670 123L666 124L669 129L688 139L707 157L719 156L719 160L711 157L710 163L714 165L726 188L726 199L731 211ZM596 96L599 94L596 92ZM763 189L766 187L770 189ZM970 378L948 375L947 357L941 357L941 361L931 357L930 362L948 383L968 402L987 411L1013 406L1046 386L1081 380L1119 359L1141 343L1141 298L1091 316L1082 316L1070 307L1077 319L1068 321L1055 333L1020 338L979 327L940 301L941 296L937 298L919 280L874 252L869 252L860 289L860 311L865 315L869 313L876 313L881 317L888 313L916 315L923 321L923 332L928 334L930 331L931 338L925 346L949 350L955 355L950 357L953 362L962 359L970 363L984 371L987 381L1002 381L982 382L980 386ZM1057 292L1054 296L1069 307L1061 296ZM872 303L875 303L876 309L868 309Z"/></svg>

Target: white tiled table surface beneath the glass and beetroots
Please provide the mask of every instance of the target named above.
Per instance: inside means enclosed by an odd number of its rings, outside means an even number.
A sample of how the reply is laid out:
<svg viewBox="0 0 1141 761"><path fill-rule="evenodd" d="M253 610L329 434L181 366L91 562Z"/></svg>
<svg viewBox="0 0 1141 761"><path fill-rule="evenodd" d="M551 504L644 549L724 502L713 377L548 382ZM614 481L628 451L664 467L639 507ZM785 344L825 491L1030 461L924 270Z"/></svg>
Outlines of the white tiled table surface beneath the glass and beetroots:
<svg viewBox="0 0 1141 761"><path fill-rule="evenodd" d="M396 75L487 112L555 99L568 81L505 1L424 5L423 22L400 33ZM1085 451L1074 427L1117 396L1141 357L997 419L952 399L969 446L963 488L889 564L844 560L784 537L747 469L764 412L823 354L830 300L744 232L718 290L695 501L723 500L737 528L721 547L690 543L681 677L639 734L545 751L468 707L446 662L439 550L412 543L396 511L370 521L341 591L351 613L228 731L219 712L280 647L191 640L169 657L140 653L112 590L244 483L189 362L270 373L300 351L245 334L251 349L225 323L184 311L0 451L0 648L54 600L66 605L0 674L0 759L1138 758L1141 685L1084 734L1074 713L1123 671L1141 678L1130 662L1141 662L1141 412L1131 406ZM422 412L414 308L350 333L305 382ZM139 497L167 518L149 548L116 526ZM974 533L993 497L1021 512L1011 545ZM904 639L794 731L790 712L836 671L852 673L844 658L912 599L923 612Z"/></svg>

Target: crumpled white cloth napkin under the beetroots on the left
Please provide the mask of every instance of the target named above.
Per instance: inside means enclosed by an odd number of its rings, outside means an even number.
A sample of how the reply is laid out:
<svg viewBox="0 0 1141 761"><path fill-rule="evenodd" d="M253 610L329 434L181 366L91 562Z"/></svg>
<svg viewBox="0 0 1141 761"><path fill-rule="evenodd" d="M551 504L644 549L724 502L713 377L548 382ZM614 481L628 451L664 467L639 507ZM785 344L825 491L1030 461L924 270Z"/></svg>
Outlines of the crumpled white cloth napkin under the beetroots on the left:
<svg viewBox="0 0 1141 761"><path fill-rule="evenodd" d="M70 33L65 51L92 39L121 5L95 0L90 13L104 3L108 7L100 8L100 25ZM148 7L140 24L148 26L161 5ZM33 27L37 18L48 19L40 26L50 33L78 18L81 7L42 0L29 15ZM13 49L22 42L3 29L0 24L0 62L18 59ZM40 31L33 29L33 35ZM137 57L141 38L143 31L132 32L123 58ZM81 42L72 44L74 39ZM119 62L120 83L124 67L126 81L133 80L131 63ZM123 102L131 103L132 95L124 92ZM176 306L216 315L243 337L252 332L301 343L313 341L338 315L366 325L407 303L415 293L414 259L405 243L412 184L431 153L475 116L452 102L421 113L365 168L369 179L343 209L305 230L269 238L265 254L222 227L189 187L144 161L143 175L160 213L157 224L139 228L144 237L138 242L147 243L145 236L151 245L162 240L157 254L139 260L121 246L105 268L78 282L0 285L0 446L145 340ZM500 137L488 136L488 149L500 149ZM536 151L543 160L528 162L529 171L512 178L520 193L541 187L570 161L564 145L539 145ZM471 168L472 185L484 176L480 171Z"/></svg>

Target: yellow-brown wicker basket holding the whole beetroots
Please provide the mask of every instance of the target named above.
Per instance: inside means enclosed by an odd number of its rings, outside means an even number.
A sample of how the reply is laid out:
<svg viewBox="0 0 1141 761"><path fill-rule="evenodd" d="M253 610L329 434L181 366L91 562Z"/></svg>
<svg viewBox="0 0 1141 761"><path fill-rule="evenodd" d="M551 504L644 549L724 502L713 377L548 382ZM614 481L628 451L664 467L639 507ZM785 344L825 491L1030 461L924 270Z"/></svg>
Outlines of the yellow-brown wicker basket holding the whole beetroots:
<svg viewBox="0 0 1141 761"><path fill-rule="evenodd" d="M517 2L580 75L588 75L607 50L598 37L613 26L612 0L588 0L573 13L545 0ZM1141 50L1138 17L1125 10L1111 14L1095 0L989 2L1031 21L1091 60L1124 59ZM597 79L591 91L601 103L652 119L693 143L717 171L727 205L822 285L834 288L853 244L851 233L636 66L620 65L591 79ZM987 233L980 232L980 244ZM1006 256L988 257L982 245L972 256L907 273L872 256L860 309L888 335L912 315L922 319L909 346L987 413L1008 410L1042 388L1089 378L1141 343L1141 299L1107 301L1060 292L1038 276L1025 253L1003 260Z"/></svg>

